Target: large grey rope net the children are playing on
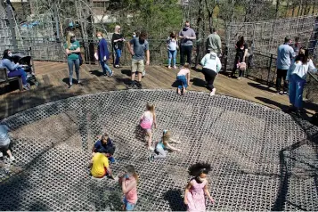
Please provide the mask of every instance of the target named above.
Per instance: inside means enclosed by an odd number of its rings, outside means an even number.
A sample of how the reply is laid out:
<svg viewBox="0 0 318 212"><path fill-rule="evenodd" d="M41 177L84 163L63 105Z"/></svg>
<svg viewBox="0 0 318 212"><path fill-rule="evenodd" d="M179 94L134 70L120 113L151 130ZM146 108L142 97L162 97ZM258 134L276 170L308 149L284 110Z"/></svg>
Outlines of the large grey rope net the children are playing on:
<svg viewBox="0 0 318 212"><path fill-rule="evenodd" d="M158 142L173 132L182 152L148 162L138 126L146 102L156 105ZM0 210L119 210L122 193L87 165L96 135L115 141L117 175L132 164L140 175L135 210L184 210L187 168L212 165L208 210L318 210L318 128L257 103L168 90L88 94L5 118L14 166L0 168ZM8 159L4 159L9 164Z"/></svg>

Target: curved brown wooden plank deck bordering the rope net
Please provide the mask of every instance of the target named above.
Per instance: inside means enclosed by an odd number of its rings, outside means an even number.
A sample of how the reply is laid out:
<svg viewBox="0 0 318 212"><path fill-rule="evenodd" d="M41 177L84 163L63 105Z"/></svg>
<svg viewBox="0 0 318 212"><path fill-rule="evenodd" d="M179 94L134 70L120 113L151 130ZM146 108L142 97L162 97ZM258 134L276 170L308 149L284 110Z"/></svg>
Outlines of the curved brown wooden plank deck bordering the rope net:
<svg viewBox="0 0 318 212"><path fill-rule="evenodd" d="M32 86L29 91L12 91L11 87L0 87L0 118L5 118L21 110L81 94L92 94L110 90L126 89L129 82L130 68L113 69L113 77L100 77L101 68L96 65L83 65L80 77L84 86L74 85L68 89L69 70L66 63L35 61L37 80L40 86ZM166 67L151 66L143 78L143 88L175 89L174 82L177 70ZM75 73L74 73L75 77ZM208 92L204 87L202 73L192 70L192 82L189 90ZM265 104L282 109L289 105L288 96L276 94L273 89L262 86L246 78L241 80L218 75L216 77L216 94ZM317 105L306 104L308 114L313 114Z"/></svg>

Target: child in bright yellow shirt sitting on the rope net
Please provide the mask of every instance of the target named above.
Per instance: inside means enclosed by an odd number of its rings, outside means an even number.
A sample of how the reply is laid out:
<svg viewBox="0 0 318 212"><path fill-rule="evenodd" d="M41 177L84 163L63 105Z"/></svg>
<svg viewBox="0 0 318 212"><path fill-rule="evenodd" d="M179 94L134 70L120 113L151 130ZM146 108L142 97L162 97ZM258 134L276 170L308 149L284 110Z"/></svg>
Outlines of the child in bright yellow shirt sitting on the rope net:
<svg viewBox="0 0 318 212"><path fill-rule="evenodd" d="M110 163L107 159L107 153L96 152L90 162L91 175L96 178L102 178L105 175L110 175L110 178L115 179L110 169Z"/></svg>

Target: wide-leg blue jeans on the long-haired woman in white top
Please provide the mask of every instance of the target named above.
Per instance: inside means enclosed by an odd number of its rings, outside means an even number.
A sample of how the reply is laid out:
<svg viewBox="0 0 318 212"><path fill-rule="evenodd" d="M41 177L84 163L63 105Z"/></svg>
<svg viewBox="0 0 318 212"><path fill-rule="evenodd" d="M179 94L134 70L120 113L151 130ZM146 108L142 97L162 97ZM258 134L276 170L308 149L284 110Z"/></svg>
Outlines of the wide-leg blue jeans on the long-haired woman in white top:
<svg viewBox="0 0 318 212"><path fill-rule="evenodd" d="M306 80L299 77L297 74L292 74L289 77L289 102L300 109L303 103L303 91Z"/></svg>

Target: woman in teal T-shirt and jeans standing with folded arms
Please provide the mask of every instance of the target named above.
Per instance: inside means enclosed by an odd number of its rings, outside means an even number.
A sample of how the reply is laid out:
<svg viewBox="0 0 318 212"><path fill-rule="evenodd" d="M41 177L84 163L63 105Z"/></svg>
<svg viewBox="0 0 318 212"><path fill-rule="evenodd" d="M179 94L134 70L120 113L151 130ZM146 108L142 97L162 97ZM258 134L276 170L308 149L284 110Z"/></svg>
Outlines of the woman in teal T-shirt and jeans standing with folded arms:
<svg viewBox="0 0 318 212"><path fill-rule="evenodd" d="M67 42L64 45L65 52L68 55L68 65L69 65L69 88L73 85L73 67L75 67L75 72L77 74L77 85L83 86L79 79L79 53L80 45L75 38L73 32L69 32L67 36Z"/></svg>

